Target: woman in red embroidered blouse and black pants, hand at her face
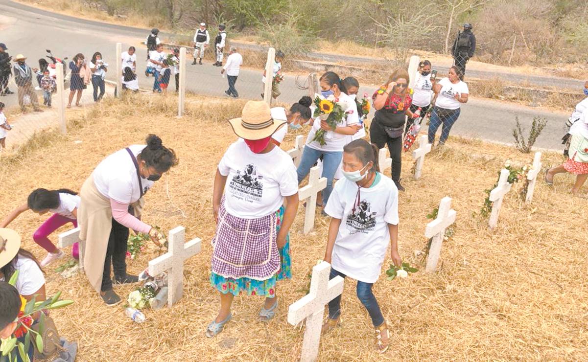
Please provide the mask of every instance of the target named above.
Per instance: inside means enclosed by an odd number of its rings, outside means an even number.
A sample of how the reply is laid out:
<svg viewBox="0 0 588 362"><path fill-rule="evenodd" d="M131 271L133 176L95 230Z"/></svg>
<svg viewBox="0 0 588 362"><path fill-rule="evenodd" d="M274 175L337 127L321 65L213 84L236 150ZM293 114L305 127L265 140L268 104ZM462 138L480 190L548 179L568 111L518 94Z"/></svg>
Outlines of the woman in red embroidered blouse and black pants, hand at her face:
<svg viewBox="0 0 588 362"><path fill-rule="evenodd" d="M380 149L388 145L392 158L392 180L400 191L405 190L400 185L402 131L406 116L417 117L410 112L412 90L408 89L409 81L408 72L404 69L396 69L386 84L373 93L373 108L376 110L376 115L369 129L372 143L375 143Z"/></svg>

